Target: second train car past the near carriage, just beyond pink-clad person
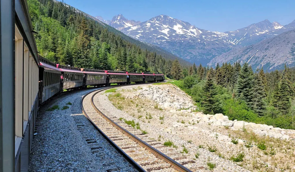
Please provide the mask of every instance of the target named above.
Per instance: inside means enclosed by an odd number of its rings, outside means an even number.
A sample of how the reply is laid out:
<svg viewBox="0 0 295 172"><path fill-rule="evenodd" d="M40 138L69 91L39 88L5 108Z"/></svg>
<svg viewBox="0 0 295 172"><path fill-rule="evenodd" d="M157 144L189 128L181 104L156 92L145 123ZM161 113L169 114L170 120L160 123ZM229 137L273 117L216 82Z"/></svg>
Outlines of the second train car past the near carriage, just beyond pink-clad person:
<svg viewBox="0 0 295 172"><path fill-rule="evenodd" d="M83 87L83 72L81 68L56 64L63 74L63 87L61 89L78 89Z"/></svg>

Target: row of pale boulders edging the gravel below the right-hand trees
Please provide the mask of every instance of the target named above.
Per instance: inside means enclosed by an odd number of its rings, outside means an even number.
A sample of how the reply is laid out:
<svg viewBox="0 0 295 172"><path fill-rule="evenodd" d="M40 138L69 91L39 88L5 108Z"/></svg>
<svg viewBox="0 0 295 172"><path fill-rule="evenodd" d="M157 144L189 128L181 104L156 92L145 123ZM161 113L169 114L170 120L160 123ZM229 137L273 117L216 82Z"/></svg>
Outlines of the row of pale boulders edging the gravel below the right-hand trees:
<svg viewBox="0 0 295 172"><path fill-rule="evenodd" d="M228 126L232 130L239 129L251 129L255 134L260 136L269 136L279 139L286 140L295 140L295 130L286 130L282 128L274 128L273 126L265 125L265 124L255 124L253 122L245 122L245 121L231 121L228 119L226 115L223 114L203 114L203 112L191 112L192 119L190 122L206 122L211 123L211 125L217 126Z"/></svg>

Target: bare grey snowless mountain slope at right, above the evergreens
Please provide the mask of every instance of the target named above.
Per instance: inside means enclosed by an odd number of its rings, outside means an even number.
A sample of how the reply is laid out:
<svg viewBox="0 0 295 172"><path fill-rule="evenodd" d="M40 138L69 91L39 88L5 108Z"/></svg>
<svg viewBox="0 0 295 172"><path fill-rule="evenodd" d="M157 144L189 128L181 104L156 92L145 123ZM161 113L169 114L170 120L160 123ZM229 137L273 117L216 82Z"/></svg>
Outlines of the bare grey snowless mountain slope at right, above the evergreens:
<svg viewBox="0 0 295 172"><path fill-rule="evenodd" d="M274 35L274 34L273 34ZM283 68L284 64L295 66L295 30L284 32L254 45L248 45L219 55L209 65L216 63L248 62L252 67L268 70Z"/></svg>

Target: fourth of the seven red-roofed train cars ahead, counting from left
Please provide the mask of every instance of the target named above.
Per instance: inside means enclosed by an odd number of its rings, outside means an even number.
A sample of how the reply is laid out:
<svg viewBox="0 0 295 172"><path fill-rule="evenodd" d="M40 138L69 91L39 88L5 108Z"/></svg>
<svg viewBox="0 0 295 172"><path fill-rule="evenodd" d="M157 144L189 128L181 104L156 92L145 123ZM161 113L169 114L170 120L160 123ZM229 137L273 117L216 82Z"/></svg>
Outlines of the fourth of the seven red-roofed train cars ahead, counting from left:
<svg viewBox="0 0 295 172"><path fill-rule="evenodd" d="M127 72L107 71L107 83L125 84L127 83Z"/></svg>

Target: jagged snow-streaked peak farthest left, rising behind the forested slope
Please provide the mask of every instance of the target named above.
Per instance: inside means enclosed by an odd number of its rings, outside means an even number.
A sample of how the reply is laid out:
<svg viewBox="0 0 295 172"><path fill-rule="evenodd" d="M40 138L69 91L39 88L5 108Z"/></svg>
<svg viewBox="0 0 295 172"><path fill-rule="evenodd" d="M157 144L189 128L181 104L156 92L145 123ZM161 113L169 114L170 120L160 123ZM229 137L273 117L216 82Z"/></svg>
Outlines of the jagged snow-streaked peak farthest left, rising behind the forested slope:
<svg viewBox="0 0 295 172"><path fill-rule="evenodd" d="M126 19L122 14L114 16L112 20L104 20L101 16L97 16L95 18L116 28L117 30L122 30L126 27L131 27L140 23L140 21Z"/></svg>

